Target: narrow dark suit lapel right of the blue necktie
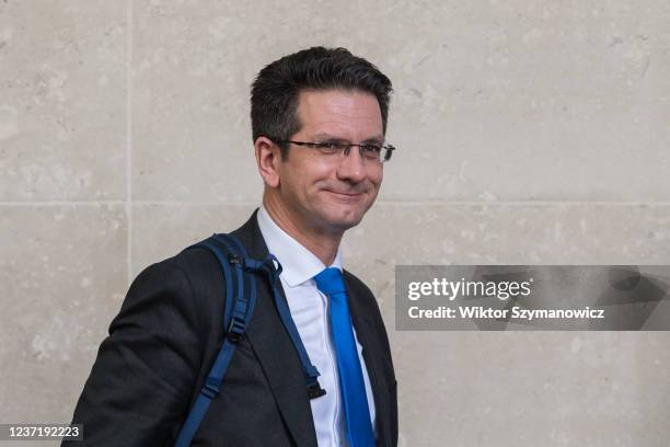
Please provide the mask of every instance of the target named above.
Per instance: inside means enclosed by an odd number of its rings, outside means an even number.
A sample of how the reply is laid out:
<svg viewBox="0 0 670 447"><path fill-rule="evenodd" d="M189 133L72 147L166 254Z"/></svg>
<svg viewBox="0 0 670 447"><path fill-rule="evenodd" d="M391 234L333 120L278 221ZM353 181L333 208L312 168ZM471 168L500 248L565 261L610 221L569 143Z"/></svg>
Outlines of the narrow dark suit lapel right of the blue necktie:
<svg viewBox="0 0 670 447"><path fill-rule="evenodd" d="M351 321L356 329L356 336L362 346L362 357L366 360L366 369L370 378L372 387L372 396L374 397L374 409L377 412L377 436L378 445L391 446L391 427L389 426L389 383L383 374L383 359L380 357L382 347L379 345L376 330L372 321L363 311L361 300L358 297L356 289L351 287L345 274L345 285L347 287L349 311L351 312Z"/></svg>

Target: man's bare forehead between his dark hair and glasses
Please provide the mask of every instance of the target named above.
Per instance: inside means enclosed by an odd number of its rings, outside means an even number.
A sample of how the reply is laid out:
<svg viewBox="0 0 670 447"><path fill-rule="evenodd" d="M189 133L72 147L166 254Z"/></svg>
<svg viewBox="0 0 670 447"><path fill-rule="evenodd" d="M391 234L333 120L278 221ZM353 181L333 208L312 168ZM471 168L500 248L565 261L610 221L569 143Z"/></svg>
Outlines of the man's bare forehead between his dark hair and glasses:
<svg viewBox="0 0 670 447"><path fill-rule="evenodd" d="M360 90L303 90L298 96L301 135L327 134L342 138L382 136L377 98Z"/></svg>

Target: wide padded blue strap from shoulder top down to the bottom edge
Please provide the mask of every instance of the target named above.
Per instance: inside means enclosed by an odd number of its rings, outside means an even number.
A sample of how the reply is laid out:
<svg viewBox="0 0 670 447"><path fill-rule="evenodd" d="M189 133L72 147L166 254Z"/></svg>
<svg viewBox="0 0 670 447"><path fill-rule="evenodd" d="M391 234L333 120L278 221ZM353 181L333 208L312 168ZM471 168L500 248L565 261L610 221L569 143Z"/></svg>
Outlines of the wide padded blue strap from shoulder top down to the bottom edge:
<svg viewBox="0 0 670 447"><path fill-rule="evenodd" d="M211 401L218 396L223 381L226 370L230 365L233 352L235 351L236 344L244 336L246 326L251 321L251 317L254 311L256 303L256 288L255 280L251 279L251 294L245 294L245 276L242 268L242 263L239 262L240 256L236 252L238 247L233 243L227 234L213 234L205 241L198 242L192 248L203 248L209 250L223 271L223 278L226 282L226 306L223 311L223 328L227 328L227 333L223 337L223 344L217 359L213 363L211 370L205 385L200 389L200 393L196 398L196 401L188 413L186 422L182 426L177 436L175 447L188 447L193 437L195 436ZM231 268L231 265L234 266ZM234 273L233 273L234 268ZM236 290L235 290L236 285Z"/></svg>

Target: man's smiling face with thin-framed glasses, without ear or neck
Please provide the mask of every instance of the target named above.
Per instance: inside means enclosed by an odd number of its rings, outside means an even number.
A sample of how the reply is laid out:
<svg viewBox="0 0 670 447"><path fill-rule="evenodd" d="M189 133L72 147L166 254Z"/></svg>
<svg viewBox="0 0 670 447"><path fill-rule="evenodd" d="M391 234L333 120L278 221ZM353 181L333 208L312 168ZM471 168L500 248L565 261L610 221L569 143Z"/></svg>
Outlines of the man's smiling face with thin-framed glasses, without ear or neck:
<svg viewBox="0 0 670 447"><path fill-rule="evenodd" d="M361 91L302 91L302 125L293 141L383 141L379 103ZM291 145L279 165L279 197L301 228L342 233L358 225L372 206L382 182L380 162L361 158L358 147L347 157L324 156L309 146Z"/></svg>

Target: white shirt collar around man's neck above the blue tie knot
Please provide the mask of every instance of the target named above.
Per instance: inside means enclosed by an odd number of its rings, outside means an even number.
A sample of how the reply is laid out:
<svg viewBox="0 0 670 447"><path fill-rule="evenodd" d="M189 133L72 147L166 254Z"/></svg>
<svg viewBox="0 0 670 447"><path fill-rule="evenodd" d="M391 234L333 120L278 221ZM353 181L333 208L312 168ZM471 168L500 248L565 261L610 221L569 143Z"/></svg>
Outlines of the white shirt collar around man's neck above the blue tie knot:
<svg viewBox="0 0 670 447"><path fill-rule="evenodd" d="M281 264L281 277L290 287L296 287L321 273L326 266L319 257L304 245L291 238L270 217L265 207L261 205L257 214L258 228L265 239L267 250L277 257ZM342 271L342 253L337 253L331 267Z"/></svg>

